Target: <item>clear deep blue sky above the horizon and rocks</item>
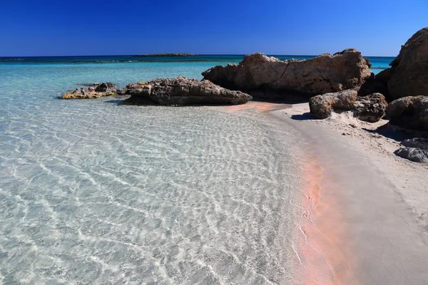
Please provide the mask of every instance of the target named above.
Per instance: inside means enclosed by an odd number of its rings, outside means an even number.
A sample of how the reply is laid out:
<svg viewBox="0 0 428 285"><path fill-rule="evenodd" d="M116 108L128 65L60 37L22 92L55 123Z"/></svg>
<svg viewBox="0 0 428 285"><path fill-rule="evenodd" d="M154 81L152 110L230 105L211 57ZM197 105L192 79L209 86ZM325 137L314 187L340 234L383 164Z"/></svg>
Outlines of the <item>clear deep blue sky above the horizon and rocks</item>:
<svg viewBox="0 0 428 285"><path fill-rule="evenodd" d="M0 0L0 56L396 56L424 26L428 0Z"/></svg>

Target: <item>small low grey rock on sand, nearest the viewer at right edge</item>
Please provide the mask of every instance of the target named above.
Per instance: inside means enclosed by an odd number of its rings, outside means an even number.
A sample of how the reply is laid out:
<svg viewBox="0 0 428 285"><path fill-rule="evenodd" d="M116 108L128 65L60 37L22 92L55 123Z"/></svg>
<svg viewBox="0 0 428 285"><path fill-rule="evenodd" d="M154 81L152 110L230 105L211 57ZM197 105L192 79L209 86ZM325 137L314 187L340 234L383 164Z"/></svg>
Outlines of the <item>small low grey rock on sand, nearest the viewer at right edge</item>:
<svg viewBox="0 0 428 285"><path fill-rule="evenodd" d="M412 138L402 142L403 147L394 153L399 157L414 162L428 162L428 140L424 138Z"/></svg>

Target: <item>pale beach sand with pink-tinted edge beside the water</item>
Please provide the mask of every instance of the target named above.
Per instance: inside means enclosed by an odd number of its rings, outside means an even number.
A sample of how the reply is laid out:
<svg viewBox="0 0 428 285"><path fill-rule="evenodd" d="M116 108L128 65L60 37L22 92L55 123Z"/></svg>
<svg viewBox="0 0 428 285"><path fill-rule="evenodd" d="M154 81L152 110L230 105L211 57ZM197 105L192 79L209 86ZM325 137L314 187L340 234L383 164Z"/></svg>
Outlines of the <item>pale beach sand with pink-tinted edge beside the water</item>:
<svg viewBox="0 0 428 285"><path fill-rule="evenodd" d="M302 103L269 114L299 130L322 167L310 239L325 252L331 283L428 284L428 166L394 155L399 142L375 131L386 120L308 112Z"/></svg>

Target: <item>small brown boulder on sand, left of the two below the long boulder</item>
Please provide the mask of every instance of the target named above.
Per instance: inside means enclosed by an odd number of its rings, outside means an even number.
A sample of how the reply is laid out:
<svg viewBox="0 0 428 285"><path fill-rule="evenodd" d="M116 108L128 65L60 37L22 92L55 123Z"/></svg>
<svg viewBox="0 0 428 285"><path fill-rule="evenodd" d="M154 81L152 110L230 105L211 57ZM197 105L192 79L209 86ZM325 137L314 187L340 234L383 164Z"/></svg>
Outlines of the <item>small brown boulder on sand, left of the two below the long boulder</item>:
<svg viewBox="0 0 428 285"><path fill-rule="evenodd" d="M356 101L357 91L352 89L317 95L309 100L310 113L316 119L325 119L333 110L351 110Z"/></svg>

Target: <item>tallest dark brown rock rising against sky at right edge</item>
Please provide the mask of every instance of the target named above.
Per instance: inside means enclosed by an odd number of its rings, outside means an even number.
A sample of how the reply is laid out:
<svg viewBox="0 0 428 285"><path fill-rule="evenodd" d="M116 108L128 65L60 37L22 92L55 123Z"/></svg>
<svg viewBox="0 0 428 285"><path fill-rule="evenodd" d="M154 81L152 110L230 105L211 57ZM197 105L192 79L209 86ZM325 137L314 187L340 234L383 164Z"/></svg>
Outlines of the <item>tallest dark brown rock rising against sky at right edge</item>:
<svg viewBox="0 0 428 285"><path fill-rule="evenodd" d="M392 61L388 89L394 99L428 95L428 28L409 38Z"/></svg>

